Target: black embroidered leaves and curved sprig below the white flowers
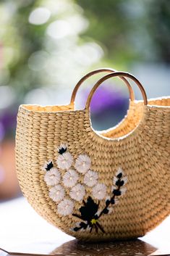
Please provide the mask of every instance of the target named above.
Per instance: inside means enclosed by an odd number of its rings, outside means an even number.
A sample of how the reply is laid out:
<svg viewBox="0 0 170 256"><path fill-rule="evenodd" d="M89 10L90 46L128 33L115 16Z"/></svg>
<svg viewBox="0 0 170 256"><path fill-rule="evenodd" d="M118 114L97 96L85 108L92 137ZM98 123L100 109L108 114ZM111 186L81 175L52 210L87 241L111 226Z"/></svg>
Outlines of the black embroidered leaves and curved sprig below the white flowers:
<svg viewBox="0 0 170 256"><path fill-rule="evenodd" d="M72 215L82 220L79 225L75 226L73 228L73 231L77 232L80 230L85 230L87 228L90 228L90 232L95 228L96 233L98 233L98 230L101 230L103 233L105 233L103 227L99 223L99 219L102 215L110 214L113 212L113 206L117 204L118 200L116 197L122 196L124 194L126 188L122 188L124 186L125 181L127 182L127 177L123 177L123 171L118 170L116 172L116 176L114 177L114 187L112 188L112 196L106 198L105 207L103 210L99 210L99 202L98 204L93 201L91 197L88 197L87 202L84 200L83 206L80 207L80 215L73 213ZM103 185L103 184L100 184ZM98 184L96 185L98 186ZM98 188L101 186L98 186ZM100 189L96 189L96 193L98 194L98 191L101 191Z"/></svg>

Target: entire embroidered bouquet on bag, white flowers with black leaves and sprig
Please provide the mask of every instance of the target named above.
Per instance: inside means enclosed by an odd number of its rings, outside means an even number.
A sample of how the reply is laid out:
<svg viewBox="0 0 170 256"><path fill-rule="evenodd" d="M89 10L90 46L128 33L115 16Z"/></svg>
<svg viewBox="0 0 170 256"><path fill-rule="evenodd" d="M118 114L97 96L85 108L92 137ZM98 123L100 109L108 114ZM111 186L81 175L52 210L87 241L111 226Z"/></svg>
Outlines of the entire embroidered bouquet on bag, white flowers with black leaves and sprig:
<svg viewBox="0 0 170 256"><path fill-rule="evenodd" d="M68 151L67 144L61 144L57 151L56 167L53 160L43 165L44 181L48 186L49 197L57 203L57 212L63 216L72 214L81 220L72 228L73 231L92 232L95 229L96 232L101 230L105 233L99 219L114 210L119 197L126 191L124 185L127 183L127 176L124 176L124 171L119 168L113 178L111 196L106 197L107 187L98 181L98 173L91 170L91 160L87 154L80 154L75 159ZM87 187L90 188L91 194L85 202ZM95 199L98 202L95 202ZM100 209L100 201L103 199L105 206ZM75 202L83 204L79 209L80 214L73 213Z"/></svg>

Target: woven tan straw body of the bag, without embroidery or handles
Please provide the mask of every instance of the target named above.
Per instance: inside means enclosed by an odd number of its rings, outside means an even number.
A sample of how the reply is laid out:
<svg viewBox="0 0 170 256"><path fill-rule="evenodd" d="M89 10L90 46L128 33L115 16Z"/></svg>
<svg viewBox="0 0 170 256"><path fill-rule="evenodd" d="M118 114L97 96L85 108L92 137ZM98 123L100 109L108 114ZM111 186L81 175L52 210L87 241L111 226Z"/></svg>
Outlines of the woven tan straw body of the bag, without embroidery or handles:
<svg viewBox="0 0 170 256"><path fill-rule="evenodd" d="M155 228L170 213L169 106L168 97L148 100L148 105L130 101L122 123L97 133L91 127L87 108L74 110L72 104L21 105L17 116L16 165L22 192L30 205L49 223L85 241L136 238ZM49 197L50 187L44 181L42 166L48 160L56 165L61 143L67 144L74 160L80 154L90 157L90 170L98 173L107 195L111 194L113 178L120 167L128 178L127 191L119 197L119 203L98 220L101 228L95 225L97 220L88 226L85 218L76 217L88 197L93 197L93 188L84 186L81 173L78 182L85 187L85 195L83 202L73 200L75 215L62 215L57 210L59 203ZM63 177L66 170L57 165L56 168ZM62 179L59 184L63 186ZM70 188L65 187L64 191L64 197L70 199ZM102 210L106 199L94 199L97 204L99 201ZM85 222L84 228L73 230L81 221Z"/></svg>

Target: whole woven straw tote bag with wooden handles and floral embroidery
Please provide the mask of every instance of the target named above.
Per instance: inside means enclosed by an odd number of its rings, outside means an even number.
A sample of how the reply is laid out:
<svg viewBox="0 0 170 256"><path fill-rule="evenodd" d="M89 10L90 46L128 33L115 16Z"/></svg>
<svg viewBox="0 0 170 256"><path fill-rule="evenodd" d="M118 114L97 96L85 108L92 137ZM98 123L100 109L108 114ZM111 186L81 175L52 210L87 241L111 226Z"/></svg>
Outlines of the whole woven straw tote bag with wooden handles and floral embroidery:
<svg viewBox="0 0 170 256"><path fill-rule="evenodd" d="M132 100L118 127L98 133L90 102L104 80L117 76L132 79L143 101ZM85 110L73 105L20 106L16 165L23 194L77 239L143 236L170 213L169 97L148 100L137 78L115 72L95 83Z"/></svg>

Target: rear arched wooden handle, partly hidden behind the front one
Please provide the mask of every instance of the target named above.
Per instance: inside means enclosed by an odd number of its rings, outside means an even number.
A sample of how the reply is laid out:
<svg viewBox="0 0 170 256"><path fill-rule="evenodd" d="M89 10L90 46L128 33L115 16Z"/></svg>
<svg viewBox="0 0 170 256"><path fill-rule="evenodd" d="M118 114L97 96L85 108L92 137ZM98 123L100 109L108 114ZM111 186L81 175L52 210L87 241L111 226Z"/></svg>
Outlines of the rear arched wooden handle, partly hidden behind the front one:
<svg viewBox="0 0 170 256"><path fill-rule="evenodd" d="M75 97L77 95L77 91L80 88L81 84L88 78L90 78L90 76L95 75L97 73L101 73L101 72L109 72L109 73L114 73L116 72L116 70L113 70L111 68L100 68L98 70L93 70L92 72L88 73L87 75L83 76L80 81L77 83L77 85L75 86L74 90L72 91L72 97L71 97L71 101L70 104L75 104ZM129 89L129 99L131 99L132 101L134 101L135 99L135 94L134 91L132 89L132 86L129 84L128 80L124 77L120 77L126 84L127 87Z"/></svg>

